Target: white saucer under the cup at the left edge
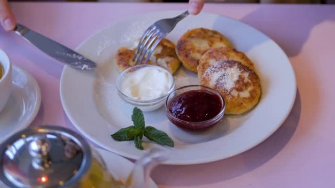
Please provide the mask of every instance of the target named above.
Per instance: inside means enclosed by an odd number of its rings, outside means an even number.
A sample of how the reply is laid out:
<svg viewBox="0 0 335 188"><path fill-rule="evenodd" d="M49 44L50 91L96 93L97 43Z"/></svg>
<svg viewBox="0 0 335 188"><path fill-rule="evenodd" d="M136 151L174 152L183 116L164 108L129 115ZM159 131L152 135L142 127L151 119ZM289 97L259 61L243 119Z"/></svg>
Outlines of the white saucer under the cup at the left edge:
<svg viewBox="0 0 335 188"><path fill-rule="evenodd" d="M15 65L12 71L12 94L0 112L0 142L30 125L41 105L41 92L36 80Z"/></svg>

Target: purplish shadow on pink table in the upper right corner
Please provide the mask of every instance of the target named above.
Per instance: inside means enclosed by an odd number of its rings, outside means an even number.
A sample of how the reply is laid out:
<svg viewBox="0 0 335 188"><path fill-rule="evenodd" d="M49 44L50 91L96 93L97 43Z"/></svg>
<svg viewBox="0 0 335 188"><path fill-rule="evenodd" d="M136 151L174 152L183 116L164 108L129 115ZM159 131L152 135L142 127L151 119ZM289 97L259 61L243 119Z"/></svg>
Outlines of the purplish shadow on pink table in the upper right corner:
<svg viewBox="0 0 335 188"><path fill-rule="evenodd" d="M323 21L335 21L335 11L334 6L278 5L270 8L261 5L241 21L264 32L283 48L287 56L293 57L299 54L314 26Z"/></svg>

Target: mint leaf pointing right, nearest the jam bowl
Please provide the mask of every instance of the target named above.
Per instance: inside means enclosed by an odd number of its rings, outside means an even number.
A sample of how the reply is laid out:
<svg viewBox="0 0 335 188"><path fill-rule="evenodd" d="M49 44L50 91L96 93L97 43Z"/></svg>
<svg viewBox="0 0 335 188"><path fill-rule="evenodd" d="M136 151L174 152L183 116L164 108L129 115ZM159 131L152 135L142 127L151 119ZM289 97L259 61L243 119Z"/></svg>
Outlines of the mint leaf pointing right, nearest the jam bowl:
<svg viewBox="0 0 335 188"><path fill-rule="evenodd" d="M156 142L160 145L166 145L173 147L174 143L172 139L164 131L158 130L152 126L146 126L144 131L144 136L149 140Z"/></svg>

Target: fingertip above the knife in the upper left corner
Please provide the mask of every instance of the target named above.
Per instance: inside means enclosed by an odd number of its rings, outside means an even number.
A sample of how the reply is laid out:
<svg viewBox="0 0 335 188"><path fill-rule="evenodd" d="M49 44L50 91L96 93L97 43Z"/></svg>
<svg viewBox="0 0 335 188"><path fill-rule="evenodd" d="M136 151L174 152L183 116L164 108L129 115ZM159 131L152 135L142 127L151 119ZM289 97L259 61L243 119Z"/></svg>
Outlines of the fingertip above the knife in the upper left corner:
<svg viewBox="0 0 335 188"><path fill-rule="evenodd" d="M0 22L6 31L11 31L16 26L14 15L7 0L0 0Z"/></svg>

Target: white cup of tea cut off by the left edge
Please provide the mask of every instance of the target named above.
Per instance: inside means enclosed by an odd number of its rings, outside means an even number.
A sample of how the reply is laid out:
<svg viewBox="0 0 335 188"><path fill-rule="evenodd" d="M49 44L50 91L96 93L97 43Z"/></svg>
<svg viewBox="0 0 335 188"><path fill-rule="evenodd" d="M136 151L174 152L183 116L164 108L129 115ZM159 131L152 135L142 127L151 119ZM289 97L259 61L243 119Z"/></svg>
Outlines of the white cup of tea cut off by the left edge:
<svg viewBox="0 0 335 188"><path fill-rule="evenodd" d="M0 49L0 65L3 69L2 77L0 78L0 112L5 107L12 91L12 64L9 61L7 54Z"/></svg>

